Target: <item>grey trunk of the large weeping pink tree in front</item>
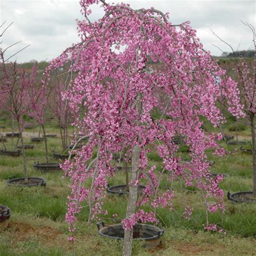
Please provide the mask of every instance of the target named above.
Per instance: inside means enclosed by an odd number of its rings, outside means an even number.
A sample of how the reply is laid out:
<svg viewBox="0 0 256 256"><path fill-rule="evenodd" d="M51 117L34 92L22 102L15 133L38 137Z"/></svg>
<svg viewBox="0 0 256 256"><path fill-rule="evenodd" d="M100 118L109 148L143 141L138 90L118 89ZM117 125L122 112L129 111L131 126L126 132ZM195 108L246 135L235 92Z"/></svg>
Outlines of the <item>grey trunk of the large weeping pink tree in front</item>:
<svg viewBox="0 0 256 256"><path fill-rule="evenodd" d="M126 208L126 219L130 219L135 211L136 203L138 200L138 186L134 183L138 179L139 170L139 153L140 147L136 145L132 149L132 173L130 179L130 192ZM123 246L123 256L131 256L132 254L132 238L133 230L125 230L124 232L124 246Z"/></svg>

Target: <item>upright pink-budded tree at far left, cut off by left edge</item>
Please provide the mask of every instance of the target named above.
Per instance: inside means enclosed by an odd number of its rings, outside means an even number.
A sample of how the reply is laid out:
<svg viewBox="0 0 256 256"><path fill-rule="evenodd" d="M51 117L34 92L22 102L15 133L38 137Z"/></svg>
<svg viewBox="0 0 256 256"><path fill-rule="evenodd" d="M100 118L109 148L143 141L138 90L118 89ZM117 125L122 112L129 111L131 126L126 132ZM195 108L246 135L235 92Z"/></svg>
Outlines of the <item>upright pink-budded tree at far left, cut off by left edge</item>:
<svg viewBox="0 0 256 256"><path fill-rule="evenodd" d="M8 48L6 48L8 49ZM24 128L23 116L34 107L29 100L29 95L35 86L37 66L32 73L26 73L14 62L6 62L4 51L0 52L1 79L0 79L0 108L9 112L17 121L19 138L22 144L23 172L25 182L28 182L28 171L26 168L26 154L22 131ZM16 144L17 145L17 144Z"/></svg>

